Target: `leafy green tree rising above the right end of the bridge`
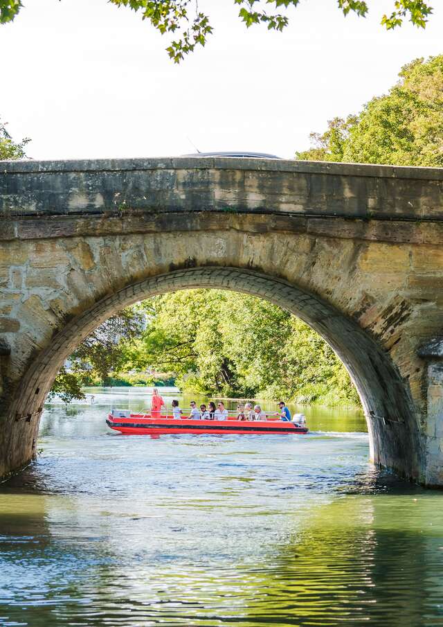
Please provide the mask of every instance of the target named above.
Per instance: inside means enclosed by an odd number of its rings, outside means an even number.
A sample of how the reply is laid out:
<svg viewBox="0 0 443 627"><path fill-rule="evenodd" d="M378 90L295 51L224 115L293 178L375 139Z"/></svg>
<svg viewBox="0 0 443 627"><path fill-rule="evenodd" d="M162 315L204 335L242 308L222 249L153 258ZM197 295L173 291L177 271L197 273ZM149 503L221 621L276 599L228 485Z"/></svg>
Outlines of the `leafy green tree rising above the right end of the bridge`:
<svg viewBox="0 0 443 627"><path fill-rule="evenodd" d="M443 55L405 65L389 94L358 116L334 118L298 159L443 166Z"/></svg>

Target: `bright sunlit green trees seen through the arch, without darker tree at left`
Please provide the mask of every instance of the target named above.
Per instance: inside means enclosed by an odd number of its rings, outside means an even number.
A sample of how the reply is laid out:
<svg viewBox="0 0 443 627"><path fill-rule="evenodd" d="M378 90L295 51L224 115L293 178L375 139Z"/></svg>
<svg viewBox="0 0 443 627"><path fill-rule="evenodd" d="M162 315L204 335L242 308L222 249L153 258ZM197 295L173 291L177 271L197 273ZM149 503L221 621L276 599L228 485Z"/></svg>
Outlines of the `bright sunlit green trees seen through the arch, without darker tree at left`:
<svg viewBox="0 0 443 627"><path fill-rule="evenodd" d="M174 370L183 387L201 394L359 403L332 348L267 301L223 290L187 290L143 307L149 322L127 353L128 367Z"/></svg>

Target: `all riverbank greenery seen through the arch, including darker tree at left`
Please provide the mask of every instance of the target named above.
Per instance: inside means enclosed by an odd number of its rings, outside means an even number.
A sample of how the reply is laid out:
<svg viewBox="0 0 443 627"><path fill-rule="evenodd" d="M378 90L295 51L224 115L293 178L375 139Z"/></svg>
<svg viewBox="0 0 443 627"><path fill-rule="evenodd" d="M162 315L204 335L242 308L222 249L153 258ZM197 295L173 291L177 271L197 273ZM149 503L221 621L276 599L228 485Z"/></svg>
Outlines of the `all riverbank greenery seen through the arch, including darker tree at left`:
<svg viewBox="0 0 443 627"><path fill-rule="evenodd" d="M82 385L141 382L203 396L359 403L343 364L307 324L224 290L174 292L123 310L78 346L53 392L69 400L82 397Z"/></svg>

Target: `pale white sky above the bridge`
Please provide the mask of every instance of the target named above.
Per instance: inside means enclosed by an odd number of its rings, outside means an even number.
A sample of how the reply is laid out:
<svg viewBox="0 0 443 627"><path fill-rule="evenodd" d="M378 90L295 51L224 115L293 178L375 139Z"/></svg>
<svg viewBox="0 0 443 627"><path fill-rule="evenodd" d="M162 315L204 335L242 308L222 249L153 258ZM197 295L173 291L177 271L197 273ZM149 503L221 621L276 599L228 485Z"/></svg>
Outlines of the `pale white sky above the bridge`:
<svg viewBox="0 0 443 627"><path fill-rule="evenodd" d="M0 26L0 118L33 159L164 157L242 150L291 159L334 116L359 112L399 69L443 53L443 7L426 30L386 32L393 0L346 18L302 0L284 33L246 29L233 0L200 0L214 26L175 65L162 37L106 0L24 0Z"/></svg>

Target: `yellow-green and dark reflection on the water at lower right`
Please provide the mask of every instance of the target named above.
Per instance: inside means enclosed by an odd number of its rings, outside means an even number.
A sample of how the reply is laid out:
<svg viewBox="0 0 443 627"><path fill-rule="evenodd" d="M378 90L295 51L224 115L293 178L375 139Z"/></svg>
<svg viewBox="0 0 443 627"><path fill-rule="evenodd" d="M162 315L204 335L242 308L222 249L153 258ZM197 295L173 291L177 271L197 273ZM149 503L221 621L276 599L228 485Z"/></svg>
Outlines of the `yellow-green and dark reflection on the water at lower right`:
<svg viewBox="0 0 443 627"><path fill-rule="evenodd" d="M442 513L438 495L414 490L320 507L266 560L273 565L247 603L251 625L266 624L266 615L300 626L443 624Z"/></svg>

